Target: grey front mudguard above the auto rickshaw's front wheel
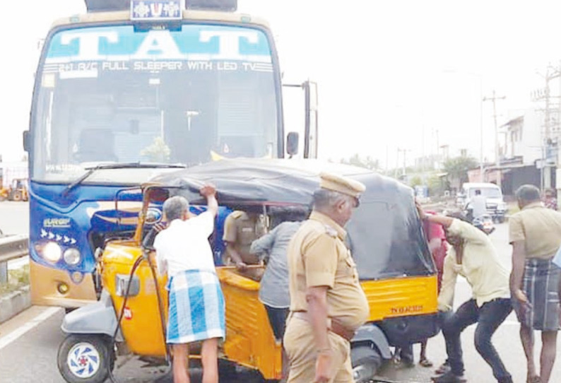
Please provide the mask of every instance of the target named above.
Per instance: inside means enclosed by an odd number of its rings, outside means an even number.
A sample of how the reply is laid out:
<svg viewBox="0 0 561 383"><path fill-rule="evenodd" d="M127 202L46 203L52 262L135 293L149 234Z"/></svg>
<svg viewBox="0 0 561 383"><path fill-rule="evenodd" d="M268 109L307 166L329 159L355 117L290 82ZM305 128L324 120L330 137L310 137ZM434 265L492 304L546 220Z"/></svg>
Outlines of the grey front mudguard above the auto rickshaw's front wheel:
<svg viewBox="0 0 561 383"><path fill-rule="evenodd" d="M107 290L103 289L100 300L90 303L64 316L61 330L66 334L104 334L112 337L117 327L117 314ZM124 338L121 329L117 331L115 341L122 342Z"/></svg>

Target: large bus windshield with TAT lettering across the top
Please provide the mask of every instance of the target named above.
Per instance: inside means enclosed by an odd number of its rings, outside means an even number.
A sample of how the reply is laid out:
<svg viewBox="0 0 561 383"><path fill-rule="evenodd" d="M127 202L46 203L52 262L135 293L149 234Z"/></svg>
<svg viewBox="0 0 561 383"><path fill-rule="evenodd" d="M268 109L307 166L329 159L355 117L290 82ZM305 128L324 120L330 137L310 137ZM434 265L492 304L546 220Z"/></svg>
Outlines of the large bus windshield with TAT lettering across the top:
<svg viewBox="0 0 561 383"><path fill-rule="evenodd" d="M93 26L59 30L45 49L35 180L69 182L100 163L278 156L280 90L262 30Z"/></svg>

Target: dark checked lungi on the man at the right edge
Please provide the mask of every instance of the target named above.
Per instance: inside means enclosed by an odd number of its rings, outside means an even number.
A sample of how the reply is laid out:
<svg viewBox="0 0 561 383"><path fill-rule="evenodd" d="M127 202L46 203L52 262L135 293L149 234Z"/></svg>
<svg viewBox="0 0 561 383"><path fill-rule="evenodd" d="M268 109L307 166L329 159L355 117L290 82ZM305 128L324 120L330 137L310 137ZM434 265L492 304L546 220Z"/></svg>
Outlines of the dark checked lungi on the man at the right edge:
<svg viewBox="0 0 561 383"><path fill-rule="evenodd" d="M559 329L560 271L550 259L526 259L522 290L530 306L521 307L515 302L520 323L541 331Z"/></svg>

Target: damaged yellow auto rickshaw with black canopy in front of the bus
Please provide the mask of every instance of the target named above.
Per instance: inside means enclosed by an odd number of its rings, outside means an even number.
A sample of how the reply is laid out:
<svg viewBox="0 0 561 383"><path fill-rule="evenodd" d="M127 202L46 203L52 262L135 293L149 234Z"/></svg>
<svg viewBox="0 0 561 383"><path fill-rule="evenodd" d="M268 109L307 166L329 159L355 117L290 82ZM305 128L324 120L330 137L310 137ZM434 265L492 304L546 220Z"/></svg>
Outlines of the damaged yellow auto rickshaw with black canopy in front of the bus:
<svg viewBox="0 0 561 383"><path fill-rule="evenodd" d="M369 170L315 160L220 160L160 175L143 186L143 209L134 237L107 240L100 252L100 299L64 318L61 328L69 336L58 355L63 377L68 382L103 382L113 368L116 350L167 358L166 277L155 272L149 243L150 228L162 218L165 199L186 196L197 213L204 209L199 187L212 182L222 209L215 224L220 233L231 209L261 209L273 222L278 206L309 206L321 170L352 177L367 188L347 225L348 246L370 303L369 322L351 342L356 382L374 377L391 359L391 346L435 336L437 274L412 189ZM258 299L259 282L221 264L219 234L211 237L211 244L226 303L220 358L256 370L264 379L280 379L280 346Z"/></svg>

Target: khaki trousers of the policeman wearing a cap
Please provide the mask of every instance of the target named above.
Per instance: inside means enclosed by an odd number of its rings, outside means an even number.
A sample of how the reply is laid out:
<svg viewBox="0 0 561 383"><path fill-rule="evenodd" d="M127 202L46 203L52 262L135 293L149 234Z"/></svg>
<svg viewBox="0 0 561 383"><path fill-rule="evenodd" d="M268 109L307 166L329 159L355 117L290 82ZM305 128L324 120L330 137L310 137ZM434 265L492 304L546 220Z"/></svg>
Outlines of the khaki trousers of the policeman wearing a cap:
<svg viewBox="0 0 561 383"><path fill-rule="evenodd" d="M332 378L329 383L354 383L350 364L350 343L329 331L329 346L333 350ZM305 319L288 317L284 346L290 372L287 383L313 383L316 375L317 347L312 326Z"/></svg>

